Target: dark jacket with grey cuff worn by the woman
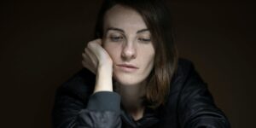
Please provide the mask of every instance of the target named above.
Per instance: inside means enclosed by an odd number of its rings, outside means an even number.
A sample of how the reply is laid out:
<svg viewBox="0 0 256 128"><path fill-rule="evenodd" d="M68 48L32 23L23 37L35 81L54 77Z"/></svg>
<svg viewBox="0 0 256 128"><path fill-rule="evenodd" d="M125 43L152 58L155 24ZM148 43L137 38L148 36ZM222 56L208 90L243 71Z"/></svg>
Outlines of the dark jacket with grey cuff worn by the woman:
<svg viewBox="0 0 256 128"><path fill-rule="evenodd" d="M190 61L180 59L165 106L146 108L137 121L125 112L116 92L93 95L95 75L83 69L63 84L55 96L53 125L58 128L229 128Z"/></svg>

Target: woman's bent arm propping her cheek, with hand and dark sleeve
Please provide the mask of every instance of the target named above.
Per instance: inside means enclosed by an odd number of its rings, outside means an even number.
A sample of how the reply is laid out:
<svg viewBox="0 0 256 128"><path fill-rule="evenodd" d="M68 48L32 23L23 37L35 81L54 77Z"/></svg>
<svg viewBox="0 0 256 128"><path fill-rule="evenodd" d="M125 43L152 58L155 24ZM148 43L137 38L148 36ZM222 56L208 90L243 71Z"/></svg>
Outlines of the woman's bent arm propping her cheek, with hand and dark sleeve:
<svg viewBox="0 0 256 128"><path fill-rule="evenodd" d="M57 90L53 111L54 127L121 127L120 96L113 92L113 64L101 46L102 40L91 41L84 49L82 64L96 79L79 76ZM87 71L88 71L87 70ZM84 82L83 79L87 79ZM95 80L95 84L88 84ZM93 86L94 91L88 91Z"/></svg>

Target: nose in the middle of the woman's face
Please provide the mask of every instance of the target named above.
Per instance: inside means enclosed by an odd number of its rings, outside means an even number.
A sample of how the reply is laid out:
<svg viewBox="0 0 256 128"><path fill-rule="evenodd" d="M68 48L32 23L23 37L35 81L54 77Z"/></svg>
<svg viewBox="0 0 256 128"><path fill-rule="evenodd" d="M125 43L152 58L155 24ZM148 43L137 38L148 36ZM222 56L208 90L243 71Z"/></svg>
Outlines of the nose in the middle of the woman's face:
<svg viewBox="0 0 256 128"><path fill-rule="evenodd" d="M131 42L125 43L122 49L121 56L125 61L135 59L137 57L137 49L135 44Z"/></svg>

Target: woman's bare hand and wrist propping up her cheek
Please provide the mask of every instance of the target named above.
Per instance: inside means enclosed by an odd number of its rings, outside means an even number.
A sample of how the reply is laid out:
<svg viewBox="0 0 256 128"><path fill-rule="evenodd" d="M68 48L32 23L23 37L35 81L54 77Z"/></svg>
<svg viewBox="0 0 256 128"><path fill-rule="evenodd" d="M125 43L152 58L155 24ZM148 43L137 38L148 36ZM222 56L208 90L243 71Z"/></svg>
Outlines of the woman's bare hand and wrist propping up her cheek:
<svg viewBox="0 0 256 128"><path fill-rule="evenodd" d="M108 52L102 48L102 39L90 41L84 48L82 57L82 65L96 74L94 92L113 91L113 61Z"/></svg>

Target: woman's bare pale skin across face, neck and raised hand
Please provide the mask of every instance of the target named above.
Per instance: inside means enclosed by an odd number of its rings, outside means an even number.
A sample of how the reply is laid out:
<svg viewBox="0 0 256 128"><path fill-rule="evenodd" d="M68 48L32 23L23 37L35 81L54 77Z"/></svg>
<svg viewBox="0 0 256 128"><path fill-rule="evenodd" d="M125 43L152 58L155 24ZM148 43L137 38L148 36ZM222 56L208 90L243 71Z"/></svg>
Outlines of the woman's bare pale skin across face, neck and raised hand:
<svg viewBox="0 0 256 128"><path fill-rule="evenodd" d="M82 55L83 66L96 73L94 92L113 91L114 84L126 111L141 119L141 97L155 54L148 27L137 11L115 5L104 16L103 31L103 38L90 41Z"/></svg>

